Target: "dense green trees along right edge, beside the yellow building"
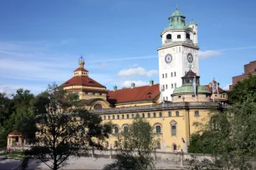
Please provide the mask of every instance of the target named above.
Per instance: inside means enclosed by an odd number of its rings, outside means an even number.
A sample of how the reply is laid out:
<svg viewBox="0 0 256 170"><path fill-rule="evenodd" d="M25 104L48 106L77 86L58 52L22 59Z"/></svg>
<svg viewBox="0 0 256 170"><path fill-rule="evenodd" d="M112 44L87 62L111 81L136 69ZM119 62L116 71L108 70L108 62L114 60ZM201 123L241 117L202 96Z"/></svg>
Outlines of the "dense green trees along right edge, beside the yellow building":
<svg viewBox="0 0 256 170"><path fill-rule="evenodd" d="M204 130L193 136L189 151L211 151L219 169L251 168L249 160L256 152L255 82L256 77L249 76L233 87L232 106L217 112Z"/></svg>

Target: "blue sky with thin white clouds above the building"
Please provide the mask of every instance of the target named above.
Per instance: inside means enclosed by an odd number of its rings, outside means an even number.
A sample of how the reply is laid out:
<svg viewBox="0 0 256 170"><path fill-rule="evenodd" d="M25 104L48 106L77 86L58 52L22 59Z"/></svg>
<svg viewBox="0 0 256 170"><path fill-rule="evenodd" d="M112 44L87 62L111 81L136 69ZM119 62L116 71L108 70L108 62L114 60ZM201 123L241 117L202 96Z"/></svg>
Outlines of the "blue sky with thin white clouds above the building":
<svg viewBox="0 0 256 170"><path fill-rule="evenodd" d="M0 92L61 84L81 54L108 89L159 82L156 48L176 4L198 24L201 84L216 77L226 87L256 59L255 1L2 0Z"/></svg>

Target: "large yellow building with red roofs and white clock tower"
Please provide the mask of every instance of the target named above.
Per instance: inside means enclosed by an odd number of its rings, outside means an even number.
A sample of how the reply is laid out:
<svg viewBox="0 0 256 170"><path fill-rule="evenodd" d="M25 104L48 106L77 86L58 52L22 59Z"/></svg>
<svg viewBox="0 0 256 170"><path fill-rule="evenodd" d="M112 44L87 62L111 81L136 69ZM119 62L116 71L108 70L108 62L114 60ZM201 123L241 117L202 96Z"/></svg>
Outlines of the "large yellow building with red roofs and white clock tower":
<svg viewBox="0 0 256 170"><path fill-rule="evenodd" d="M198 130L193 123L207 123L212 113L209 108L221 108L212 101L211 83L200 85L197 24L186 24L185 16L176 9L161 38L162 45L157 49L159 84L150 81L147 86L136 87L131 83L130 88L115 86L107 90L90 77L84 68L84 58L80 57L73 77L61 85L67 92L77 93L90 112L115 125L106 148L115 148L116 133L135 117L143 117L155 129L159 139L157 150L186 153L190 136Z"/></svg>

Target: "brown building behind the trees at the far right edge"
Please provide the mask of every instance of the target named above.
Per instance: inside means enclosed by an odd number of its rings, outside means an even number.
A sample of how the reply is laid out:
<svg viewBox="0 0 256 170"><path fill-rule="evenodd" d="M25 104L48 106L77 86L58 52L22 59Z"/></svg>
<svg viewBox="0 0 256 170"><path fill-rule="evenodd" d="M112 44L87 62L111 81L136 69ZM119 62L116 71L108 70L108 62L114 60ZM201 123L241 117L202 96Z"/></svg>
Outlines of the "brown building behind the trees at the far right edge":
<svg viewBox="0 0 256 170"><path fill-rule="evenodd" d="M229 86L229 90L232 90L233 86L236 85L239 81L247 78L249 74L256 74L256 61L249 62L244 65L244 73L239 76L232 77L232 85Z"/></svg>

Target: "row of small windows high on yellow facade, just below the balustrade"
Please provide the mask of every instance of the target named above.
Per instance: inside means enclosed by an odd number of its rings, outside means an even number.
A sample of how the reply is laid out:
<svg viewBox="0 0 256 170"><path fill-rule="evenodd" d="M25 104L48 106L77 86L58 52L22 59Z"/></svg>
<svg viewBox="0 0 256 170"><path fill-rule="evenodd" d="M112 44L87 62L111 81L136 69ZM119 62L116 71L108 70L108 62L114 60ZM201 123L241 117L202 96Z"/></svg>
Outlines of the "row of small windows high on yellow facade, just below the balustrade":
<svg viewBox="0 0 256 170"><path fill-rule="evenodd" d="M115 117L116 116L116 117ZM172 117L172 112L168 112L168 117ZM175 112L175 116L176 117L179 117L180 116L180 112ZM195 111L194 112L194 116L195 117L199 117L199 112L198 111ZM136 113L136 117L140 117L139 113ZM141 114L141 117L142 118L146 118L146 114L145 113L142 113ZM151 112L148 112L147 113L147 117L148 118L151 118ZM158 113L158 116L156 115L156 112L153 112L153 117L162 117L162 112L159 112ZM130 118L130 114L126 114L126 117L125 117L125 114L122 114L121 117L120 115L112 115L112 118L110 117L110 115L108 117L106 117L105 115L103 116L103 119L106 120L106 118L108 118L108 120L110 119L129 119ZM131 114L131 118L135 118L135 114Z"/></svg>

